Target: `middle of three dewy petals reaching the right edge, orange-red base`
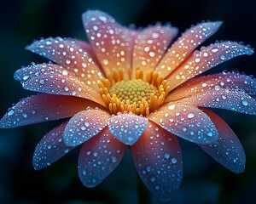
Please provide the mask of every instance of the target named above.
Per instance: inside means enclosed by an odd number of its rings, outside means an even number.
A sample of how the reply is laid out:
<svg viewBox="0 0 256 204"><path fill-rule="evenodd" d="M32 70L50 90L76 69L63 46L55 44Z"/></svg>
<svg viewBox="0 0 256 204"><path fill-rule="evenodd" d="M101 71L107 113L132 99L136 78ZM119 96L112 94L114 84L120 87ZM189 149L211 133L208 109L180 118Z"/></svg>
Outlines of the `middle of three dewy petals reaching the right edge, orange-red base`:
<svg viewBox="0 0 256 204"><path fill-rule="evenodd" d="M237 71L223 71L184 82L180 88L176 88L166 97L166 101L183 99L215 88L239 89L247 94L256 95L256 80Z"/></svg>

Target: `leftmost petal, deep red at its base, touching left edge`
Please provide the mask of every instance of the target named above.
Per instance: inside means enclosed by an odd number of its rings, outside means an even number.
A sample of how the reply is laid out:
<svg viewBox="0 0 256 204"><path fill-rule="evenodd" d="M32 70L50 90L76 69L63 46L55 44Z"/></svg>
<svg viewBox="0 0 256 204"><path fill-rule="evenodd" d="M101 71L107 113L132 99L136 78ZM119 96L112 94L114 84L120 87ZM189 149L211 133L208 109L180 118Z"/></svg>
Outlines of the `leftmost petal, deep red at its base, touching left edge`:
<svg viewBox="0 0 256 204"><path fill-rule="evenodd" d="M20 100L11 107L0 121L1 128L13 128L38 122L59 120L73 116L86 109L95 107L95 103L87 99L73 96L38 94Z"/></svg>

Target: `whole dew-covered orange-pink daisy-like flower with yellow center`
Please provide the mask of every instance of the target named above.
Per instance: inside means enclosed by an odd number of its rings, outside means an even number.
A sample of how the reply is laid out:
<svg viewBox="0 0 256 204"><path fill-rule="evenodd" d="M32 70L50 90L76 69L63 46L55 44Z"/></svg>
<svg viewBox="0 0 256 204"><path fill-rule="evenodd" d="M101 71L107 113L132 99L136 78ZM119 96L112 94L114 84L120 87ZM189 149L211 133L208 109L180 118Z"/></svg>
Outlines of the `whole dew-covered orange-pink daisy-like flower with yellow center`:
<svg viewBox="0 0 256 204"><path fill-rule="evenodd" d="M253 54L253 48L227 41L197 50L218 30L219 21L192 26L173 43L177 28L172 26L132 30L101 11L85 12L83 23L90 44L41 39L26 48L55 64L32 64L15 72L23 88L42 94L11 107L2 128L71 117L38 143L35 169L82 144L79 178L94 187L130 147L143 183L160 201L168 201L183 176L180 137L230 171L244 170L239 139L207 107L256 115L256 81L236 71L199 75L228 59Z"/></svg>

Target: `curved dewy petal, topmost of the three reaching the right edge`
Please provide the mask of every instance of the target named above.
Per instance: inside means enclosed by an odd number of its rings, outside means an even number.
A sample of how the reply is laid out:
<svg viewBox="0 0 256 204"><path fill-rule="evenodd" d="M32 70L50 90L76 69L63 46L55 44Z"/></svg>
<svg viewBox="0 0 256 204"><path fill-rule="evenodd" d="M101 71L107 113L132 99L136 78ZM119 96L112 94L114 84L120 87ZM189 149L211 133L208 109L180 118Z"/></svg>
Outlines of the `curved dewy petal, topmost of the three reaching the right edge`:
<svg viewBox="0 0 256 204"><path fill-rule="evenodd" d="M166 80L170 83L171 89L177 88L190 78L243 54L253 54L253 48L237 42L218 42L202 47L200 51L195 50L194 54L191 54Z"/></svg>

